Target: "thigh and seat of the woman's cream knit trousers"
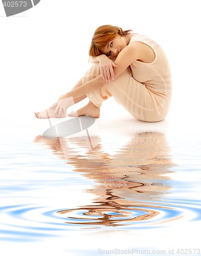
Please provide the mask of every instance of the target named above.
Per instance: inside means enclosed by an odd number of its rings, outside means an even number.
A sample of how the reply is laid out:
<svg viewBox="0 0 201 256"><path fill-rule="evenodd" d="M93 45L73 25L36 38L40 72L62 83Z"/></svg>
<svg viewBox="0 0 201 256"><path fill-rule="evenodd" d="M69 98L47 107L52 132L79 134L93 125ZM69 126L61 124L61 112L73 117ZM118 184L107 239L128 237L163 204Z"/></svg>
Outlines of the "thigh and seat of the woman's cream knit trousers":
<svg viewBox="0 0 201 256"><path fill-rule="evenodd" d="M168 95L154 93L144 83L135 80L130 67L108 83L107 88L117 103L138 120L158 122L165 119L168 113Z"/></svg>

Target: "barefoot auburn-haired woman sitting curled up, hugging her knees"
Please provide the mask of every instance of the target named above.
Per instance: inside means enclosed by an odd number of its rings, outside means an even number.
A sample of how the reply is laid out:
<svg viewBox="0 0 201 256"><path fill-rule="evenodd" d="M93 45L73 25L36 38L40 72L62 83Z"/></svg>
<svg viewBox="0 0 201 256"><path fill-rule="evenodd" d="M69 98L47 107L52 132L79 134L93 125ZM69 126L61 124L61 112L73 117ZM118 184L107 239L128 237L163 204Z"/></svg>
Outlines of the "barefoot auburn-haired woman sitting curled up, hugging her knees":
<svg viewBox="0 0 201 256"><path fill-rule="evenodd" d="M86 106L68 115L97 118L103 101L113 96L139 120L163 120L171 98L168 60L155 41L131 32L111 25L97 28L89 49L91 69L50 108L35 113L36 117L65 117L69 106L88 97Z"/></svg>

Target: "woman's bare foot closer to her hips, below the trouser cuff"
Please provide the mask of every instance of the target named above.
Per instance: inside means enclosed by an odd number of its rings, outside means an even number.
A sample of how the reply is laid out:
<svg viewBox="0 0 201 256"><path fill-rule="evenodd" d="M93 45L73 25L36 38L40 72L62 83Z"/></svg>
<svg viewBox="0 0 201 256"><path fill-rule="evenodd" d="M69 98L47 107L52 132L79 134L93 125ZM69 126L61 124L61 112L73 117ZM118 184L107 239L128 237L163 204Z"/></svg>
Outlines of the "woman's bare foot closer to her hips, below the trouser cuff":
<svg viewBox="0 0 201 256"><path fill-rule="evenodd" d="M85 106L83 106L83 108L68 114L68 116L73 116L73 117L86 116L86 115L93 118L98 118L100 117L100 108L98 108L91 101L89 101Z"/></svg>

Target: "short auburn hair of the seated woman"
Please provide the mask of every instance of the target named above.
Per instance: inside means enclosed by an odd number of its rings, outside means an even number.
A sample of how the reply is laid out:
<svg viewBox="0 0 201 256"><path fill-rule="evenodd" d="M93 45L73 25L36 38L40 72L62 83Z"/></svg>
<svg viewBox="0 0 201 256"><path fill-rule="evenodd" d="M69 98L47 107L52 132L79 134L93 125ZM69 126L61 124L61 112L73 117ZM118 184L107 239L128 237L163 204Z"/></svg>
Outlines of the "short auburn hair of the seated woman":
<svg viewBox="0 0 201 256"><path fill-rule="evenodd" d="M98 27L91 40L89 56L95 57L104 54L104 48L107 46L108 42L114 39L115 36L125 36L131 31L131 29L123 31L121 28L112 25Z"/></svg>

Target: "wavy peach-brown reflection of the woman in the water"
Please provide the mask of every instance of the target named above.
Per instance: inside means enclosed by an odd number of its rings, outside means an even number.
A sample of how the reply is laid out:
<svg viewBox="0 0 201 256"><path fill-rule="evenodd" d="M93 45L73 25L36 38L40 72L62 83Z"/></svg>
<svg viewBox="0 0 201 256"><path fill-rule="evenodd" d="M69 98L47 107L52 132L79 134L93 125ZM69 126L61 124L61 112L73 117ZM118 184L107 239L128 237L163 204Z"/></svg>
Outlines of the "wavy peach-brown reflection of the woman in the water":
<svg viewBox="0 0 201 256"><path fill-rule="evenodd" d="M171 189L168 174L175 165L165 135L136 134L126 145L116 148L114 154L104 151L99 137L91 138L94 148L90 147L87 137L46 139L39 136L36 141L51 147L75 172L97 184L88 190L94 195L91 205L58 211L66 216L65 223L117 226L137 222L143 225L153 224L151 219L155 219L156 224L181 218L172 214L174 209L161 200ZM108 148L110 143L113 142L108 141Z"/></svg>

